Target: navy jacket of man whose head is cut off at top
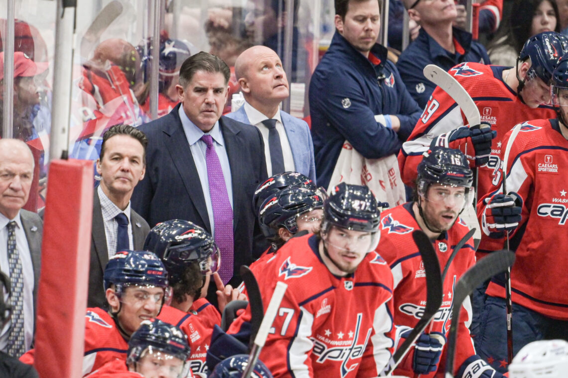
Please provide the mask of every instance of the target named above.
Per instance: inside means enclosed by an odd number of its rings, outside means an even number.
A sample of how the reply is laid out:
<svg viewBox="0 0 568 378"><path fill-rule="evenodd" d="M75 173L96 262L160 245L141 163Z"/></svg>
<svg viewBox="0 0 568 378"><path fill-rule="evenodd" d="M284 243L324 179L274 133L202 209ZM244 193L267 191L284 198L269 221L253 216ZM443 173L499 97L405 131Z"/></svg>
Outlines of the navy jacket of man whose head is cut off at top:
<svg viewBox="0 0 568 378"><path fill-rule="evenodd" d="M396 62L400 77L421 109L424 109L436 88L436 84L424 77L423 69L428 64L435 64L445 71L463 62L490 64L485 47L473 41L471 33L456 27L452 28L452 33L455 54L441 47L424 29L420 29L416 40L408 45Z"/></svg>

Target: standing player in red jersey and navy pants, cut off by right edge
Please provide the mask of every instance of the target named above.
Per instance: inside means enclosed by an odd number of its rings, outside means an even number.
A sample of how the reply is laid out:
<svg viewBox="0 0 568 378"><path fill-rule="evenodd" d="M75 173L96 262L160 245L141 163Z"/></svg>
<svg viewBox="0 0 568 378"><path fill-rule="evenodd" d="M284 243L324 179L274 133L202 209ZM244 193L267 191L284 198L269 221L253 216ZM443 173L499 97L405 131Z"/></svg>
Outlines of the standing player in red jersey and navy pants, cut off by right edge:
<svg viewBox="0 0 568 378"><path fill-rule="evenodd" d="M521 124L507 161L507 195L501 183L478 202L483 229L479 248L503 248L509 230L516 260L511 268L513 353L534 340L568 339L565 223L568 176L568 54L552 74L552 102L557 118ZM504 159L512 132L505 135ZM507 368L505 289L494 277L475 336L480 355L502 371Z"/></svg>

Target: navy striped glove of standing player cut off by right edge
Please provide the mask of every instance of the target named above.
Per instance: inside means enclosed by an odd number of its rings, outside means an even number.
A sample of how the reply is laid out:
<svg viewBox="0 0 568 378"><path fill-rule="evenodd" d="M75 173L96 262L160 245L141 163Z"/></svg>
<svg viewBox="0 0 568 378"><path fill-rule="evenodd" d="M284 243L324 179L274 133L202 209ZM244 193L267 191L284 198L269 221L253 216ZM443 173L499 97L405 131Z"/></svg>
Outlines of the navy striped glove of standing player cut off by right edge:
<svg viewBox="0 0 568 378"><path fill-rule="evenodd" d="M485 210L481 219L481 228L490 238L500 239L505 231L512 232L521 221L523 198L515 192L509 192L507 196L495 194L483 200Z"/></svg>

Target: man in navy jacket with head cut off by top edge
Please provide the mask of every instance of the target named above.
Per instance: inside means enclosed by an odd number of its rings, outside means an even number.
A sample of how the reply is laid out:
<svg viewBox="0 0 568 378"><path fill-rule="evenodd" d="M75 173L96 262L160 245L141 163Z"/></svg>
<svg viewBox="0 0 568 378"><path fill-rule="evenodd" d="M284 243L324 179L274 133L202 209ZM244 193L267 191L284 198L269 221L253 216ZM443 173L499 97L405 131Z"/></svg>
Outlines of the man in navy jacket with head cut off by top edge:
<svg viewBox="0 0 568 378"><path fill-rule="evenodd" d="M436 64L444 70L473 61L489 63L483 45L470 33L453 27L456 4L453 0L403 0L408 16L420 25L418 38L400 55L396 68L408 92L423 108L436 85L424 78L423 69Z"/></svg>

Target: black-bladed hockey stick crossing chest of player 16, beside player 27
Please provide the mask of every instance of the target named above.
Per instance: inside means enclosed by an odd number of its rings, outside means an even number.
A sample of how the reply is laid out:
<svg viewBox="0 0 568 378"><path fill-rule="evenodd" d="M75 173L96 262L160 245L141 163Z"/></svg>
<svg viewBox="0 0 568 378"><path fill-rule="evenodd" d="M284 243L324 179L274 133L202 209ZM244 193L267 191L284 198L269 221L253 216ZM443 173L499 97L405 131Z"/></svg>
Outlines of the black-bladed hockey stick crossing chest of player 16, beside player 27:
<svg viewBox="0 0 568 378"><path fill-rule="evenodd" d="M416 323L416 326L410 332L410 335L408 335L402 345L394 352L394 355L392 355L380 376L391 375L396 366L410 350L412 344L414 344L420 334L424 332L424 329L436 315L438 309L440 309L440 305L442 304L440 264L438 263L438 257L436 256L436 251L432 246L432 242L428 239L428 236L420 230L413 231L412 238L418 247L418 251L420 252L420 256L424 263L424 271L426 273L426 306L422 317Z"/></svg>

